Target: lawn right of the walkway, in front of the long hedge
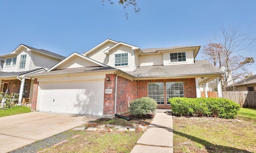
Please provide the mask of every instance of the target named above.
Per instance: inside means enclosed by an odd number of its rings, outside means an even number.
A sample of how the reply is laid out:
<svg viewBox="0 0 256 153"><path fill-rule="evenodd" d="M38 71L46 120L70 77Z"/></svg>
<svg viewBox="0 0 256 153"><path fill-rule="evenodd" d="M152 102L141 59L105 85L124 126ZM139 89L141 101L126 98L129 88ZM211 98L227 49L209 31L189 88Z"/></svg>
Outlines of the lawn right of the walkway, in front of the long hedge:
<svg viewBox="0 0 256 153"><path fill-rule="evenodd" d="M243 122L211 119L174 118L174 153L256 153L256 109L242 108Z"/></svg>

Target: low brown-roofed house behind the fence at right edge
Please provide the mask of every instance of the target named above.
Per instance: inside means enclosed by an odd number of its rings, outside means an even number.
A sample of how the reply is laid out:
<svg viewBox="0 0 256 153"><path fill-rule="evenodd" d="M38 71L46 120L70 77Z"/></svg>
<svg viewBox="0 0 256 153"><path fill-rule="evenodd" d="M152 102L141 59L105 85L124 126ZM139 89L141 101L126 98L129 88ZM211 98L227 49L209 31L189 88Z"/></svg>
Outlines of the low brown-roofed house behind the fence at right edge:
<svg viewBox="0 0 256 153"><path fill-rule="evenodd" d="M228 91L256 91L256 75L231 84Z"/></svg>

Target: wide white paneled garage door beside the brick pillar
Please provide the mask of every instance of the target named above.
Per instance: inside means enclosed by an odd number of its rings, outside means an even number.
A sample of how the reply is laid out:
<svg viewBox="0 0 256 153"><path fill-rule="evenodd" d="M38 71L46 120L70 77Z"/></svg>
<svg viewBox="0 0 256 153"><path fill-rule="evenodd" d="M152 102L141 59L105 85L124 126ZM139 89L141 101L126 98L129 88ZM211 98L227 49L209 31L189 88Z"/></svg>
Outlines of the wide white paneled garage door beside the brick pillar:
<svg viewBox="0 0 256 153"><path fill-rule="evenodd" d="M104 80L42 82L40 111L103 115Z"/></svg>

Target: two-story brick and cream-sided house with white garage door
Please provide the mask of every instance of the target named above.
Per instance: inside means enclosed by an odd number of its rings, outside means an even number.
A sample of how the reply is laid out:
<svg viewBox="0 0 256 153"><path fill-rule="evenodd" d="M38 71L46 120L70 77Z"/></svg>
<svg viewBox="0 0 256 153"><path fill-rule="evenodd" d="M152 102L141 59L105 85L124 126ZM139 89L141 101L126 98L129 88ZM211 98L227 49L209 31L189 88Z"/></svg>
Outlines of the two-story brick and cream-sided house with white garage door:
<svg viewBox="0 0 256 153"><path fill-rule="evenodd" d="M106 39L84 54L72 53L35 78L32 109L114 118L132 100L151 97L170 109L171 97L200 97L200 85L224 74L206 60L194 61L200 46L140 49ZM207 96L206 96L207 97Z"/></svg>

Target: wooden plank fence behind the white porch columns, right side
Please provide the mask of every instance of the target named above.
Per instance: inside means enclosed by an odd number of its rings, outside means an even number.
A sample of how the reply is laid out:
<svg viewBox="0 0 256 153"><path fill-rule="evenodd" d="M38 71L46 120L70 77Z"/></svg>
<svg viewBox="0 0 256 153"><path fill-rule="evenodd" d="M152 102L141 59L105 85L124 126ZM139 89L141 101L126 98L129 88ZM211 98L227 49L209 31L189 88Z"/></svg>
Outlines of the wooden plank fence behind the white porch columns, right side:
<svg viewBox="0 0 256 153"><path fill-rule="evenodd" d="M218 97L215 91L208 91L208 97ZM205 97L205 92L201 92L201 97ZM240 104L241 107L256 108L256 91L224 91L222 97L233 100Z"/></svg>

